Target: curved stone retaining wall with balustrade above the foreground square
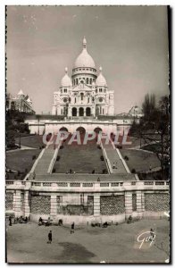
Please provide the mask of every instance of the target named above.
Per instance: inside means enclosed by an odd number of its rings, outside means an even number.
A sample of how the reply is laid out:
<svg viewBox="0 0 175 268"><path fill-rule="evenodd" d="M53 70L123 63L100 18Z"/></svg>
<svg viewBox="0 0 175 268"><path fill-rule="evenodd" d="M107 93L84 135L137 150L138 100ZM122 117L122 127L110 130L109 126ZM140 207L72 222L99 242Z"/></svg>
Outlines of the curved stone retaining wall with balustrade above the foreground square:
<svg viewBox="0 0 175 268"><path fill-rule="evenodd" d="M133 217L162 217L170 211L168 181L6 182L6 211L64 222L123 222ZM62 185L62 186L60 186Z"/></svg>

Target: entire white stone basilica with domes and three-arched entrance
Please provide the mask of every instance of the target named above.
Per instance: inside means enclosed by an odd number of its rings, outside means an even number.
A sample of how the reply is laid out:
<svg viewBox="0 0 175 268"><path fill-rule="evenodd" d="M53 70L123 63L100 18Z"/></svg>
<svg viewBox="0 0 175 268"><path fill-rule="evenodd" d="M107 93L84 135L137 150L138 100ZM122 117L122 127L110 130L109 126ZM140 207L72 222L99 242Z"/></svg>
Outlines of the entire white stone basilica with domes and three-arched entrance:
<svg viewBox="0 0 175 268"><path fill-rule="evenodd" d="M84 38L83 50L75 61L71 78L65 68L61 87L54 92L52 114L71 118L113 113L113 90L108 90L102 67L97 75L95 62L87 53L87 41Z"/></svg>

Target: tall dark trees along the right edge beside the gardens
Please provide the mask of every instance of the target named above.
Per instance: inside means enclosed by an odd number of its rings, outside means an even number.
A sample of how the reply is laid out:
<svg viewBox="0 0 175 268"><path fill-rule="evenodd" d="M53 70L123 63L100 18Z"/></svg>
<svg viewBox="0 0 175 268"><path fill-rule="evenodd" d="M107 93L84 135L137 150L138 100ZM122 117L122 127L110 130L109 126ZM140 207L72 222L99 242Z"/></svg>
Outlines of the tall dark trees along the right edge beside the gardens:
<svg viewBox="0 0 175 268"><path fill-rule="evenodd" d="M169 168L170 162L170 114L169 97L162 96L158 105L155 105L154 95L146 95L143 107L143 118L136 125L137 136L144 139L147 145L157 145L154 154L160 161L162 178L164 171Z"/></svg>

